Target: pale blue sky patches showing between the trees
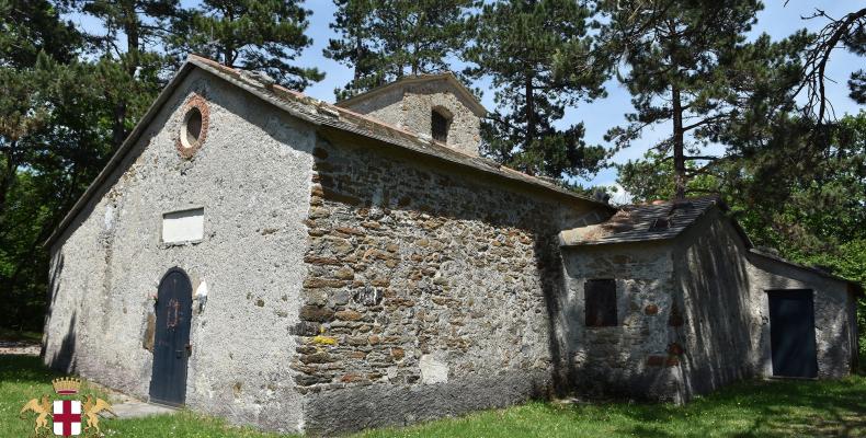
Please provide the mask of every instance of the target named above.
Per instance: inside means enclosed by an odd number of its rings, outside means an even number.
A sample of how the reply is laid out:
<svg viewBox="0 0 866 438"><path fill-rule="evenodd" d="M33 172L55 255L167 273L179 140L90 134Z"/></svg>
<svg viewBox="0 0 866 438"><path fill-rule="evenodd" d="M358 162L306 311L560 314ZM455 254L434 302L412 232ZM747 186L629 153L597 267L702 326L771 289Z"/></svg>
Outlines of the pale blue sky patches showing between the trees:
<svg viewBox="0 0 866 438"><path fill-rule="evenodd" d="M195 3L196 1L193 0L182 1L184 7ZM305 93L326 102L333 102L333 90L342 87L352 78L350 68L322 55L322 49L328 45L328 39L337 36L329 26L333 21L335 7L331 0L307 0L305 4L312 11L312 15L309 18L310 25L307 30L307 35L312 38L312 45L301 53L296 62L299 66L316 67L326 72L324 79L307 88ZM800 28L817 31L823 26L824 21L820 19L801 19L814 12L816 8L821 8L830 16L839 18L846 12L865 5L866 0L789 0L787 4L785 4L785 0L764 0L764 10L759 13L757 24L753 27L750 36L756 37L762 33L766 33L775 41L782 39ZM99 32L99 24L93 18L73 14L68 16L68 19L78 23L88 32ZM842 49L833 54L828 65L827 74L830 79L828 82L828 95L837 116L864 110L863 105L857 105L847 97L848 90L846 84L851 72L863 68L863 58L858 58ZM463 64L456 61L452 69L460 70L463 67ZM488 110L495 107L489 79L479 80L471 85L482 90L481 103ZM631 103L628 91L615 80L608 81L606 89L607 97L591 103L581 103L578 107L568 108L566 117L559 120L557 125L567 127L583 122L586 129L585 140L588 143L608 146L603 139L604 134L612 127L626 124L625 114L631 111ZM659 125L654 129L645 131L643 137L633 147L617 152L613 157L613 162L624 163L628 160L641 158L649 147L657 140L665 137L670 129L670 125ZM578 180L577 182L583 185L613 186L616 183L616 169L605 169L591 180ZM618 200L627 201L628 199L624 199L623 195L620 195Z"/></svg>

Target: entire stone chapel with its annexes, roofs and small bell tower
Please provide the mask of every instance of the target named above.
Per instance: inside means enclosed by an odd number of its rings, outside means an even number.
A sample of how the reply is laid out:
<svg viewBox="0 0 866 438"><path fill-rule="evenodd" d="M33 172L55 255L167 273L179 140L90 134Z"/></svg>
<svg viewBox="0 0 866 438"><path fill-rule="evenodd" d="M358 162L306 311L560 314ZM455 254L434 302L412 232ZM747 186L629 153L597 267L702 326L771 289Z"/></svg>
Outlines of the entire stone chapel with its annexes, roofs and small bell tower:
<svg viewBox="0 0 866 438"><path fill-rule="evenodd" d="M855 284L716 198L617 209L480 158L483 115L451 73L331 105L190 57L48 241L45 361L319 435L851 371Z"/></svg>

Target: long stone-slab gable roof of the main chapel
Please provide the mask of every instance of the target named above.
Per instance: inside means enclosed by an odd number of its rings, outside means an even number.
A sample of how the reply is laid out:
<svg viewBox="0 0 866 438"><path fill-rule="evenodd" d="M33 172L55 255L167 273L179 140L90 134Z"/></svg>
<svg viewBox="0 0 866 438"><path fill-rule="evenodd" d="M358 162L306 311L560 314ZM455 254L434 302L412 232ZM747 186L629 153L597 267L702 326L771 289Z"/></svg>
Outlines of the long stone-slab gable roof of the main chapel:
<svg viewBox="0 0 866 438"><path fill-rule="evenodd" d="M346 108L335 106L309 96L303 93L288 90L286 88L269 83L262 77L251 74L243 70L233 69L223 66L214 60L190 55L186 61L181 66L171 81L160 92L157 100L150 105L148 111L141 116L141 119L132 130L129 136L124 140L117 151L109 160L109 163L100 172L93 183L88 186L84 194L76 201L72 208L67 212L60 223L55 228L48 239L43 243L44 246L50 246L56 242L66 229L75 221L78 214L80 214L90 199L99 193L100 188L109 182L112 173L119 166L124 158L133 150L134 146L140 138L141 134L147 129L149 124L157 116L159 111L169 100L174 89L180 85L186 76L194 69L207 71L226 82L247 91L248 93L261 99L267 104L271 104L294 117L305 120L319 129L333 129L338 131L352 132L369 139L378 140L389 146L398 147L411 153L430 157L435 160L444 161L457 169L494 175L506 181L515 182L526 186L543 189L547 193L561 196L566 199L580 200L584 203L594 204L601 208L613 209L606 203L600 201L590 196L581 195L555 184L548 183L542 178L527 175L525 173L515 171L513 169L503 166L492 160L481 157L474 157L457 151L441 145L432 139L423 139L415 134L388 125L381 120L357 114ZM456 80L456 79L455 79Z"/></svg>

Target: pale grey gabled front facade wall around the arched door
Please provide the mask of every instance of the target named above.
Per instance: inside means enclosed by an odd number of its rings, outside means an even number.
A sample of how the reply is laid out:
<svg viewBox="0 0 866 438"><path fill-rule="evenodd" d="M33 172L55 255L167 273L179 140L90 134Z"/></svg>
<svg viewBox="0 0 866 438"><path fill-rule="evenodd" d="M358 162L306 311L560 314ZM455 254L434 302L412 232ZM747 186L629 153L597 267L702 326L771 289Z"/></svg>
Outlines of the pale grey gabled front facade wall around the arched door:
<svg viewBox="0 0 866 438"><path fill-rule="evenodd" d="M207 139L175 148L206 97ZM306 269L314 130L201 70L181 82L110 183L52 251L48 365L147 399L153 301L174 266L207 281L192 319L186 404L237 423L301 427L288 369ZM162 215L204 208L204 239L161 242Z"/></svg>

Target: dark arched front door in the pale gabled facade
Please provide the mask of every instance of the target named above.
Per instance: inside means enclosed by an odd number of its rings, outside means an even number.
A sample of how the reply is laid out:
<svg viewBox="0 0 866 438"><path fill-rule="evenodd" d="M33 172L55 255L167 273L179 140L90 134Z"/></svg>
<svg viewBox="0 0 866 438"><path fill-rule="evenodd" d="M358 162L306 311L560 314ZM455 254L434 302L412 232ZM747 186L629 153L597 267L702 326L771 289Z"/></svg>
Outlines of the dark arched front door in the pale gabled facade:
<svg viewBox="0 0 866 438"><path fill-rule="evenodd" d="M192 353L192 303L190 277L181 268L169 269L159 284L157 295L151 402L180 406L186 399L186 362Z"/></svg>

